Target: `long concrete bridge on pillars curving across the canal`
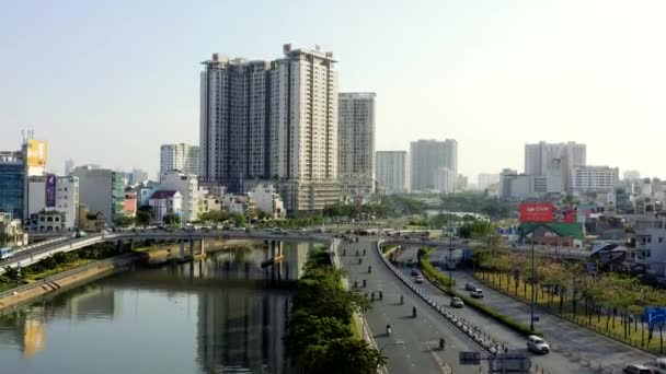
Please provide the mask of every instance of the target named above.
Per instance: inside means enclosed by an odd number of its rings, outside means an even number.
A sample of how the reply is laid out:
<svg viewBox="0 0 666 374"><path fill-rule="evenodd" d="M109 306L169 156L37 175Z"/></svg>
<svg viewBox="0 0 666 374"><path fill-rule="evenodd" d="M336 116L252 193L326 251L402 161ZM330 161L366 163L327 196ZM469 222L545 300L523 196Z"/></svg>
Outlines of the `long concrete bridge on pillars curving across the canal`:
<svg viewBox="0 0 666 374"><path fill-rule="evenodd" d="M69 237L60 236L51 238L47 242L33 244L27 247L19 248L16 254L11 258L0 262L0 274L3 273L5 267L16 268L25 267L57 253L67 253L81 249L91 245L101 243L137 243L140 241L171 241L180 243L179 256L184 256L185 244L188 243L191 248L198 246L199 255L205 253L206 239L254 239L267 242L271 246L271 258L279 259L282 256L282 242L317 242L329 243L330 237L326 235L318 235L311 233L292 233L283 232L275 233L271 231L225 231L225 230L196 230L196 231L125 231L92 234L85 237ZM194 255L194 250L193 250Z"/></svg>

